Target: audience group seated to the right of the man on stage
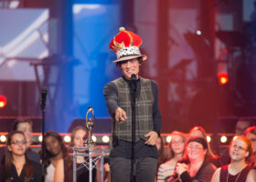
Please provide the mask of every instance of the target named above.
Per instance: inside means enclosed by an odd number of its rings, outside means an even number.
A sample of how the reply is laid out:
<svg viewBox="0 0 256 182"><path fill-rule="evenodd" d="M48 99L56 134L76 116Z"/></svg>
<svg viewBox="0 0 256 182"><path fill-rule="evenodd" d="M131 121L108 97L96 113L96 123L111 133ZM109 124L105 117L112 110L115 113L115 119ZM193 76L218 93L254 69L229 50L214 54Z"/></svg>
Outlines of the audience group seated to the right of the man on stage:
<svg viewBox="0 0 256 182"><path fill-rule="evenodd" d="M158 167L157 182L254 182L256 181L256 126L246 118L236 125L229 148L213 154L207 134L200 126L185 134L175 131L168 157ZM227 153L228 152L228 156Z"/></svg>

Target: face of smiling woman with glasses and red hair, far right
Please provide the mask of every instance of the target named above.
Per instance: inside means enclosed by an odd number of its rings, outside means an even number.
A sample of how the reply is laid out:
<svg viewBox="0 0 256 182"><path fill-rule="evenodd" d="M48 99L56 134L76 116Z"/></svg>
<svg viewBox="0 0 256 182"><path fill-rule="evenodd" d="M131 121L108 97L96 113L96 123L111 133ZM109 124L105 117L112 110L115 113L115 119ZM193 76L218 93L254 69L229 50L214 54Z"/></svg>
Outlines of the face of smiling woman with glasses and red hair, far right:
<svg viewBox="0 0 256 182"><path fill-rule="evenodd" d="M232 160L243 160L249 155L247 144L240 138L234 139L229 148L229 156Z"/></svg>

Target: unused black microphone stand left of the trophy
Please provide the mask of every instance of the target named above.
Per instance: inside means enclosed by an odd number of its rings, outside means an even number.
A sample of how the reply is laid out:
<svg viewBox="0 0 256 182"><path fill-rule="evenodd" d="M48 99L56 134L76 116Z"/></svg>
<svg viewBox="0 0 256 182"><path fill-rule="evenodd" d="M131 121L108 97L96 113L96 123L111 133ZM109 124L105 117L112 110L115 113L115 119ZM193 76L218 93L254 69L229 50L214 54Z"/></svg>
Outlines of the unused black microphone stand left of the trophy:
<svg viewBox="0 0 256 182"><path fill-rule="evenodd" d="M48 89L44 87L42 89L42 100L41 100L41 111L42 111L42 182L45 181L45 116L46 116L46 100L47 100L47 94Z"/></svg>

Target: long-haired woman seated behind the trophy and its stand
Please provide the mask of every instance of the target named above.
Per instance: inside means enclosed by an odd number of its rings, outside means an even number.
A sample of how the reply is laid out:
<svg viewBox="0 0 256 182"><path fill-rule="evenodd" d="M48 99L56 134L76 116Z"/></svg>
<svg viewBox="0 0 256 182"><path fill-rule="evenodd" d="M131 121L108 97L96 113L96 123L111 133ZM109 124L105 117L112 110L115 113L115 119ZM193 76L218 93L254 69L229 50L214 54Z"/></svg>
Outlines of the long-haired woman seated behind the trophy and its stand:
<svg viewBox="0 0 256 182"><path fill-rule="evenodd" d="M87 131L83 126L75 127L71 134L70 147L84 147L86 135ZM83 154L85 150L80 150L78 153ZM87 167L84 167L85 161L88 162L87 157L77 157L77 182L89 181L89 170ZM73 158L66 157L58 161L54 178L55 182L69 182L73 180ZM96 168L92 170L92 181L96 181Z"/></svg>

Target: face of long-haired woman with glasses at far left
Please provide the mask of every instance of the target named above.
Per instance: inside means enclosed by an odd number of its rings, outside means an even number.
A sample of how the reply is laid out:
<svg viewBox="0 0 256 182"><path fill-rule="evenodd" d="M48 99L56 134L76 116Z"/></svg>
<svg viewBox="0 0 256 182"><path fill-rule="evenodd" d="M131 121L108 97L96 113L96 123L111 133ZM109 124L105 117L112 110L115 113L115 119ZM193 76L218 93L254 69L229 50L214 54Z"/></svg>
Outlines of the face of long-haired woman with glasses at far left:
<svg viewBox="0 0 256 182"><path fill-rule="evenodd" d="M11 145L8 150L15 156L23 156L26 152L26 138L22 134L15 134L11 138Z"/></svg>

